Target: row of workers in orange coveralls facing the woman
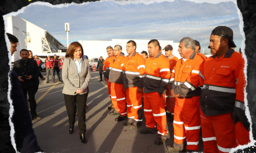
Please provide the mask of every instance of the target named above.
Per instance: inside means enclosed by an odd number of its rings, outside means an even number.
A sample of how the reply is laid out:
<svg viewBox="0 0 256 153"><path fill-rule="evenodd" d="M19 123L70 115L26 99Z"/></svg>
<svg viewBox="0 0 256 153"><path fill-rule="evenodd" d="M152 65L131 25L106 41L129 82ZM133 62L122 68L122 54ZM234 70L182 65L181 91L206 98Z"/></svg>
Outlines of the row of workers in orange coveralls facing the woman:
<svg viewBox="0 0 256 153"><path fill-rule="evenodd" d="M119 115L118 122L128 118L123 125L137 129L144 110L146 129L140 133L157 133L157 145L167 139L166 116L170 116L174 143L168 151L197 151L200 129L204 152L229 152L248 144L244 59L232 49L236 45L229 27L216 27L209 41L212 56L207 58L198 41L182 38L180 60L173 56L171 45L163 49L164 56L157 39L148 42L148 54L137 53L136 42L128 41L127 57L120 54L122 46L108 46L103 72L112 100L109 115Z"/></svg>

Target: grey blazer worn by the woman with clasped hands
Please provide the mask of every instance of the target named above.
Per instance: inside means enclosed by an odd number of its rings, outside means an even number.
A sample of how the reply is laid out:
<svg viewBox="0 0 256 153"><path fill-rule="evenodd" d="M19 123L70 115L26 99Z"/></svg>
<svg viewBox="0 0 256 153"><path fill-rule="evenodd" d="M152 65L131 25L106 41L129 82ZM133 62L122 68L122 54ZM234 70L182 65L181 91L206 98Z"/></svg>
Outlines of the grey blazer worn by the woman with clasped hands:
<svg viewBox="0 0 256 153"><path fill-rule="evenodd" d="M62 80L64 82L63 94L76 95L77 88L83 90L83 93L87 93L87 86L91 80L90 64L87 59L81 59L81 71L77 72L76 63L74 60L67 57L63 61L62 67Z"/></svg>

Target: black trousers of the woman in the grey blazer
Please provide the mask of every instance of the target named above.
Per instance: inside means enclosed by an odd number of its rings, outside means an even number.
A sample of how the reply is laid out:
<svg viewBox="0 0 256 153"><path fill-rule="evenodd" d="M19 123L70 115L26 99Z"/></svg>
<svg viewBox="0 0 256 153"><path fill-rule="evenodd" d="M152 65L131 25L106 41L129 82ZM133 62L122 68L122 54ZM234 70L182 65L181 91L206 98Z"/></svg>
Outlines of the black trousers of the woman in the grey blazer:
<svg viewBox="0 0 256 153"><path fill-rule="evenodd" d="M69 95L64 94L67 116L69 116L69 125L74 125L76 121L76 103L78 114L78 126L80 133L86 133L86 98L87 94Z"/></svg>

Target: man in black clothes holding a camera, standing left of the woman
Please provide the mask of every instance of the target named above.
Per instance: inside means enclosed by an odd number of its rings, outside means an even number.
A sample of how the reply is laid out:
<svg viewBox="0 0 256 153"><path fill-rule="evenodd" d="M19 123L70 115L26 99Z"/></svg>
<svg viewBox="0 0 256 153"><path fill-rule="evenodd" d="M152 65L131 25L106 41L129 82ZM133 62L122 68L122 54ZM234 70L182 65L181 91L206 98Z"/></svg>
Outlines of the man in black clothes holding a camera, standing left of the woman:
<svg viewBox="0 0 256 153"><path fill-rule="evenodd" d="M20 50L20 57L22 59L15 61L13 64L13 71L19 76L19 82L22 86L22 91L27 100L27 93L29 94L30 114L32 120L38 119L35 102L35 93L37 91L37 79L39 75L39 68L35 60L29 60L29 51L27 49Z"/></svg>

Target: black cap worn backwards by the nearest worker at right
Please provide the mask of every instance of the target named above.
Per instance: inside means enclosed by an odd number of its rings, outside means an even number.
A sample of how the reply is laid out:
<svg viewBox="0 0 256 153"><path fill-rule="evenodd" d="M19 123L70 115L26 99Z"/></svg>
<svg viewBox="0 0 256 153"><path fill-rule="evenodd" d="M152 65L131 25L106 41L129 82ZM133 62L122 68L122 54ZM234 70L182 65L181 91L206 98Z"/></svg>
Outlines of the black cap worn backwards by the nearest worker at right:
<svg viewBox="0 0 256 153"><path fill-rule="evenodd" d="M221 37L229 39L229 47L236 48L236 45L234 45L233 42L233 31L231 28L226 26L218 26L214 30L212 30L211 35L219 35Z"/></svg>

